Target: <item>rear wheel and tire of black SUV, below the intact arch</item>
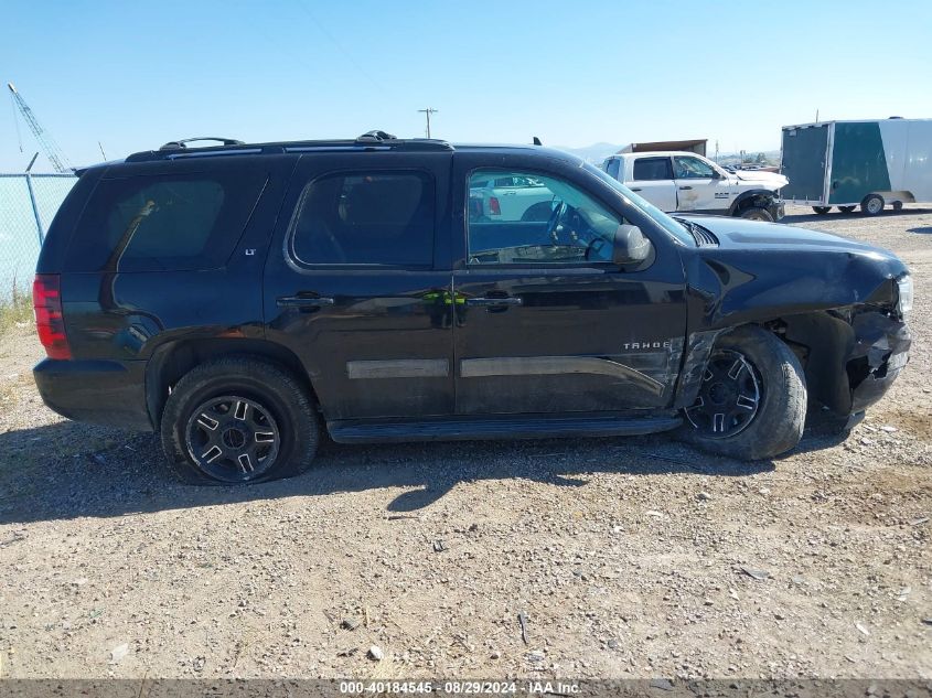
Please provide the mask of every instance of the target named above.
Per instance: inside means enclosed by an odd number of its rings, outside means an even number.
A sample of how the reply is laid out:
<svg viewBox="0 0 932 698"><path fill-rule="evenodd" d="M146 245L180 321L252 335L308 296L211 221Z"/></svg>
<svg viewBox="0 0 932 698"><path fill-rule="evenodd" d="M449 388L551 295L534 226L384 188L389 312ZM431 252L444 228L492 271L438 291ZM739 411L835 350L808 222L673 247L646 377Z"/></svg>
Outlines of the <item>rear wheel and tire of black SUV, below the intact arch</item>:
<svg viewBox="0 0 932 698"><path fill-rule="evenodd" d="M229 485L304 472L320 429L291 374L259 358L231 356L201 364L178 382L162 412L161 437L179 480Z"/></svg>

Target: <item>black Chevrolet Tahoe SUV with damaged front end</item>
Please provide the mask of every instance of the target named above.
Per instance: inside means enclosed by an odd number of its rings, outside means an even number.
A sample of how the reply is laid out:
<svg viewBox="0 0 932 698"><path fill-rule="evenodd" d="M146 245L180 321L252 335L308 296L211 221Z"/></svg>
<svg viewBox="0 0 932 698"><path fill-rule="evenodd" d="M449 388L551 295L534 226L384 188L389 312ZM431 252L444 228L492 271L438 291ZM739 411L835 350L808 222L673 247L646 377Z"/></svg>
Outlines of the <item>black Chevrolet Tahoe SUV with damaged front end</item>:
<svg viewBox="0 0 932 698"><path fill-rule="evenodd" d="M299 473L321 425L771 458L907 362L892 254L672 218L539 146L178 141L79 174L39 260L35 382L65 417L160 430L192 482Z"/></svg>

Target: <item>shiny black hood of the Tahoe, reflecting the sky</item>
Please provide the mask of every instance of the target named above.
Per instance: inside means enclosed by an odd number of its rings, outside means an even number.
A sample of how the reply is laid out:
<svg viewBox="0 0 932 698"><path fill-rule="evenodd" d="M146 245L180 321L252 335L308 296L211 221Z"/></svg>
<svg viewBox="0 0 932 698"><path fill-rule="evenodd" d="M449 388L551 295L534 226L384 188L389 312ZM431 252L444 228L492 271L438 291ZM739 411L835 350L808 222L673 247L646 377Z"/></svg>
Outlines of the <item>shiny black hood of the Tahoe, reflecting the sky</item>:
<svg viewBox="0 0 932 698"><path fill-rule="evenodd" d="M897 260L893 253L846 237L780 223L727 216L682 216L715 234L722 250L849 253L879 260ZM902 262L900 262L902 264Z"/></svg>

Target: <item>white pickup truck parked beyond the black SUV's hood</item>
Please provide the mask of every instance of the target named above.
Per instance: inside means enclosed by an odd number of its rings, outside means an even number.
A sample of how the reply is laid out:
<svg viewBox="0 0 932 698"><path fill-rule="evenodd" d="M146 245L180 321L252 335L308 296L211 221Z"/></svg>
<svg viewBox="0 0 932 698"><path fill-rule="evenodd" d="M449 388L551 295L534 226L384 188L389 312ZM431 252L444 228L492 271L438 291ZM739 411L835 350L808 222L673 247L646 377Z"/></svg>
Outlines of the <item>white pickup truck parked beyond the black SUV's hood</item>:
<svg viewBox="0 0 932 698"><path fill-rule="evenodd" d="M789 180L782 174L732 174L692 152L619 153L606 159L602 169L666 213L688 211L753 221L783 217L780 187Z"/></svg>

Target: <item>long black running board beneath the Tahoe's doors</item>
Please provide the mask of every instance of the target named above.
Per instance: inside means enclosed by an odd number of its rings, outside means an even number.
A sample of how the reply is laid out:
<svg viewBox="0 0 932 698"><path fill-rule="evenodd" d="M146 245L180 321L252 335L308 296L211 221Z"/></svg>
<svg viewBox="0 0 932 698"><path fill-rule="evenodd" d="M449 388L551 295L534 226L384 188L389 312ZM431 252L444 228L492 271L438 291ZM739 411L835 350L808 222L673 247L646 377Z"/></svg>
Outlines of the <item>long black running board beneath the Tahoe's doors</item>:
<svg viewBox="0 0 932 698"><path fill-rule="evenodd" d="M683 423L660 417L506 417L430 421L339 420L326 423L338 443L388 443L399 441L469 441L476 439L555 439L564 437L632 437L669 431Z"/></svg>

